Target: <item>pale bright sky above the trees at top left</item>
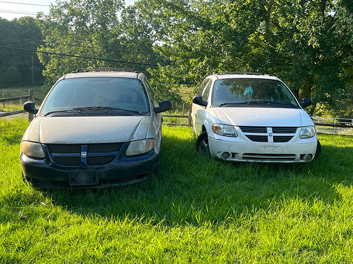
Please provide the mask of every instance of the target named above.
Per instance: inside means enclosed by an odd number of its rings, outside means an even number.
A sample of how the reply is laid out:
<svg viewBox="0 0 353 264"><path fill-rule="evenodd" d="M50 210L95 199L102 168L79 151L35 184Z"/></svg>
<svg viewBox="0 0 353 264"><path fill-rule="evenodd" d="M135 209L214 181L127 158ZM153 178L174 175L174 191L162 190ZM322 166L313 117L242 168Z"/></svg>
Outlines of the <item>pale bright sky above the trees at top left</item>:
<svg viewBox="0 0 353 264"><path fill-rule="evenodd" d="M131 5L134 2L135 0L125 0L126 5ZM55 4L55 0L0 0L0 17L12 20L25 16L35 17L37 12L48 14L50 3Z"/></svg>

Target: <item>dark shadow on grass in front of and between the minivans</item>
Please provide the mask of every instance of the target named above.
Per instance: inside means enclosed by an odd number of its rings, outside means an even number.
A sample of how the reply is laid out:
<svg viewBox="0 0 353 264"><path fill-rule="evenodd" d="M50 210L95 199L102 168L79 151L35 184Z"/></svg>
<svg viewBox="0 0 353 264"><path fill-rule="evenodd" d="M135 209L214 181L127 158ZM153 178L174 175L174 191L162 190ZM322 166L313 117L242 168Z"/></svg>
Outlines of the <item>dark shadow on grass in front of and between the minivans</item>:
<svg viewBox="0 0 353 264"><path fill-rule="evenodd" d="M293 200L295 204L339 200L333 185L352 184L352 160L344 151L352 154L351 148L324 145L319 159L306 164L232 163L199 155L195 139L169 135L163 137L160 178L95 191L50 190L45 196L88 217L137 217L167 225L223 224L247 214L285 210Z"/></svg>

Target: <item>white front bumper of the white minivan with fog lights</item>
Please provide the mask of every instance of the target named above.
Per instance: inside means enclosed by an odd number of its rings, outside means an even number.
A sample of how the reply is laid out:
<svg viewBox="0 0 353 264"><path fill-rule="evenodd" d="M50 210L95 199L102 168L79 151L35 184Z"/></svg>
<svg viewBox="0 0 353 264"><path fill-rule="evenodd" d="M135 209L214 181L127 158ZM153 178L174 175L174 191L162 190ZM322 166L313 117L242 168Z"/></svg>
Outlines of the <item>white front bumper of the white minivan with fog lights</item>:
<svg viewBox="0 0 353 264"><path fill-rule="evenodd" d="M227 137L229 138L229 137ZM210 153L214 158L224 159L223 152L228 152L226 160L252 161L252 162L308 162L315 156L317 137L306 139L294 138L285 143L267 143L241 141L234 138L234 141L226 141L208 137ZM236 141L238 140L238 141ZM312 158L306 160L307 154Z"/></svg>

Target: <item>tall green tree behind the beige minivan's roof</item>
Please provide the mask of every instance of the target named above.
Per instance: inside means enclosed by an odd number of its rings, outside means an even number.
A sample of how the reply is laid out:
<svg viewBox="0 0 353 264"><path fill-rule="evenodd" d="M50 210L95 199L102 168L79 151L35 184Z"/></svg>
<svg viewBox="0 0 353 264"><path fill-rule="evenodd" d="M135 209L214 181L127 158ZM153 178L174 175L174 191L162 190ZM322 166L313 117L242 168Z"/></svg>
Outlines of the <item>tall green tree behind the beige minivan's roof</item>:
<svg viewBox="0 0 353 264"><path fill-rule="evenodd" d="M89 47L111 47L116 36L119 35L120 28L116 14L122 8L121 0L58 1L55 6L51 5L48 16L39 14L37 17L37 24L42 30L44 41L47 42L38 50L92 58L109 58L110 51ZM103 67L109 64L96 59L61 55L38 53L38 56L45 66L43 75L46 77L47 86L51 86L58 77L77 68Z"/></svg>

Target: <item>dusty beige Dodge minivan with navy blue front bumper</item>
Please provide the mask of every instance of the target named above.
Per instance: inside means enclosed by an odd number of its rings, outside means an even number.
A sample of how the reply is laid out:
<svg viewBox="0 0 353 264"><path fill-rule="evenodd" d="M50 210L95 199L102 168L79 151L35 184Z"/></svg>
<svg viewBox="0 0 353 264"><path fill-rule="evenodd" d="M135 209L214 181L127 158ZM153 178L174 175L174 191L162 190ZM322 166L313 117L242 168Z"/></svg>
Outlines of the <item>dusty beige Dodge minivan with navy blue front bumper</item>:
<svg viewBox="0 0 353 264"><path fill-rule="evenodd" d="M138 183L160 173L161 112L134 69L80 69L56 81L21 141L23 177L43 188Z"/></svg>

